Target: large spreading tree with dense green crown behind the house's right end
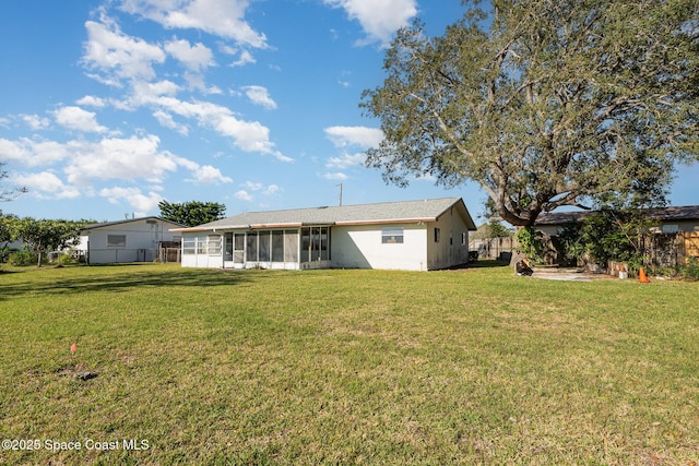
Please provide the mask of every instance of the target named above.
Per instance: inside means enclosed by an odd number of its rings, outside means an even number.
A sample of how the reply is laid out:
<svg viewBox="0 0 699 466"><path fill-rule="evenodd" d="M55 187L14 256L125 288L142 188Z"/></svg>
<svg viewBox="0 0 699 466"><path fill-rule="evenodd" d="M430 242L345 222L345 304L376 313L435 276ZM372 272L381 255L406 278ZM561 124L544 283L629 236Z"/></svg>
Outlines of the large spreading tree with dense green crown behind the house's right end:
<svg viewBox="0 0 699 466"><path fill-rule="evenodd" d="M662 194L699 154L697 0L464 2L443 36L416 22L363 94L401 186L472 180L507 222L597 195Z"/></svg>

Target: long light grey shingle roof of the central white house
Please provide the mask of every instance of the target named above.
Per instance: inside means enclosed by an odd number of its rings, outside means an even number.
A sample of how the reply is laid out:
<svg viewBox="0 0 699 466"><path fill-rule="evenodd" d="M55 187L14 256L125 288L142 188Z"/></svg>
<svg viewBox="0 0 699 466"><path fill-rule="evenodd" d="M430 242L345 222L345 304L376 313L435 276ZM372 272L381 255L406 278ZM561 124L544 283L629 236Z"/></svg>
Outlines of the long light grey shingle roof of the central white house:
<svg viewBox="0 0 699 466"><path fill-rule="evenodd" d="M286 228L313 225L370 225L387 223L435 222L457 205L470 230L476 226L461 198L426 199L422 201L382 202L342 206L321 206L286 211L246 212L233 217L176 231L209 231L214 229Z"/></svg>

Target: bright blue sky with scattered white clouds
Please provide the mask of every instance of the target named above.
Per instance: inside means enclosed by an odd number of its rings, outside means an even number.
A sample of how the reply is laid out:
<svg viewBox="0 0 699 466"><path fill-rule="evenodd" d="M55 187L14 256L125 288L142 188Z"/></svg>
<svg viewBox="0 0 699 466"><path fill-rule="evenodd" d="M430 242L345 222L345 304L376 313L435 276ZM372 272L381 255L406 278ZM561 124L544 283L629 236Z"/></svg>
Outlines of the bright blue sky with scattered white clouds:
<svg viewBox="0 0 699 466"><path fill-rule="evenodd" d="M5 0L0 3L0 160L29 192L17 216L118 220L157 204L242 212L461 196L475 183L386 184L364 166L395 31L431 36L460 0ZM699 203L679 167L670 203Z"/></svg>

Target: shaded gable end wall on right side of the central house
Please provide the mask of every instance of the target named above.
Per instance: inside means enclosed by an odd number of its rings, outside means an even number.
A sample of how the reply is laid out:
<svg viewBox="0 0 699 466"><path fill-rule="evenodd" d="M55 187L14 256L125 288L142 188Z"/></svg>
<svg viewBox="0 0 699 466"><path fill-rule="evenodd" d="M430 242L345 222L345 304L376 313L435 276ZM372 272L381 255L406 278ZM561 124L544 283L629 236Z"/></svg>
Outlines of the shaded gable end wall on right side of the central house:
<svg viewBox="0 0 699 466"><path fill-rule="evenodd" d="M435 229L439 229L437 234ZM439 270L469 262L469 227L455 207L427 225L427 267Z"/></svg>

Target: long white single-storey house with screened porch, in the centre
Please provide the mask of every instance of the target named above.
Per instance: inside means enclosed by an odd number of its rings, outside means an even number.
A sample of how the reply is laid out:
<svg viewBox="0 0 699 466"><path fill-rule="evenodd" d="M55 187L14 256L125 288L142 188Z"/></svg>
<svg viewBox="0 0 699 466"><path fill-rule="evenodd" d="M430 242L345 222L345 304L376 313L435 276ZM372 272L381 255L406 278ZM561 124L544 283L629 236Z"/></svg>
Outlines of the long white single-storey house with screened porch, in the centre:
<svg viewBox="0 0 699 466"><path fill-rule="evenodd" d="M469 261L461 198L248 212L182 235L182 266L427 271Z"/></svg>

